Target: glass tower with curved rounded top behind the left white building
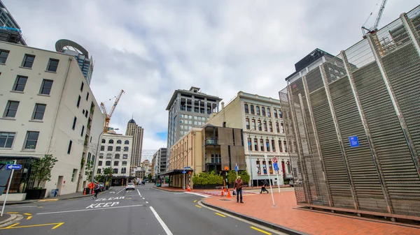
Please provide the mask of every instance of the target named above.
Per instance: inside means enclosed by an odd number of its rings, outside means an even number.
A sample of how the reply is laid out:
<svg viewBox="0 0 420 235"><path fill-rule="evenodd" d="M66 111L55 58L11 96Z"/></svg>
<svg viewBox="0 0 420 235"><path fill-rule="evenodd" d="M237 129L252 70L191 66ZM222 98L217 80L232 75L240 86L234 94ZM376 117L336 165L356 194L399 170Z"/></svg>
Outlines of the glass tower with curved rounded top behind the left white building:
<svg viewBox="0 0 420 235"><path fill-rule="evenodd" d="M55 43L55 50L74 56L77 59L78 66L80 67L83 76L86 78L87 84L90 85L94 61L92 56L89 58L89 52L81 45L66 39L57 40L57 43Z"/></svg>

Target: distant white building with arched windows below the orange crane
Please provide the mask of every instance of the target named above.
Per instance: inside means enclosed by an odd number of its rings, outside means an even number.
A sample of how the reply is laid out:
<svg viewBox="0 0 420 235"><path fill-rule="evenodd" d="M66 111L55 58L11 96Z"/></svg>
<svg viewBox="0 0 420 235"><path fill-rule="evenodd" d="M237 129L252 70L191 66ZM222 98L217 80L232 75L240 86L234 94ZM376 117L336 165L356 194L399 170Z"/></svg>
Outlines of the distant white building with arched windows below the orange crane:
<svg viewBox="0 0 420 235"><path fill-rule="evenodd" d="M113 169L113 179L118 176L130 176L133 137L106 133L102 135L99 159L95 166L96 174L103 174L104 169Z"/></svg>

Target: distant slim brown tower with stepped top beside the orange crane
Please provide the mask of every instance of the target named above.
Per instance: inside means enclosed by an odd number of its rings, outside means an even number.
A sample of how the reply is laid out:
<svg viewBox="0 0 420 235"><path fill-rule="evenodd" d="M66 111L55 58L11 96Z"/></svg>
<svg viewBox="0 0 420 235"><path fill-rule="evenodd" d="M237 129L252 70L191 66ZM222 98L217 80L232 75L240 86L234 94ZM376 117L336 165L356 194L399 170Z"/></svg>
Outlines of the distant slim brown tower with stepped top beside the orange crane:
<svg viewBox="0 0 420 235"><path fill-rule="evenodd" d="M135 172L135 169L139 167L141 163L141 149L143 149L143 132L144 129L141 128L141 126L138 126L134 119L128 121L127 130L125 130L125 135L131 135L133 137L130 173Z"/></svg>

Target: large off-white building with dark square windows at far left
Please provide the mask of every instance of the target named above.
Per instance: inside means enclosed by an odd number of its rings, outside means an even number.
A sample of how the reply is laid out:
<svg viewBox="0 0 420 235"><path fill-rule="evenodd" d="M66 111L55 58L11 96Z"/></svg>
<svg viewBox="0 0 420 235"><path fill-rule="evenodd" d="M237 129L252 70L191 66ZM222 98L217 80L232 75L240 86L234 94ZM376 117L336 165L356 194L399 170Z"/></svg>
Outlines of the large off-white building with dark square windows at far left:
<svg viewBox="0 0 420 235"><path fill-rule="evenodd" d="M31 161L57 158L51 180L65 195L85 188L82 158L93 160L104 115L73 56L0 42L0 160L18 160L9 199L25 199ZM3 195L4 196L4 195ZM1 200L1 197L0 197Z"/></svg>

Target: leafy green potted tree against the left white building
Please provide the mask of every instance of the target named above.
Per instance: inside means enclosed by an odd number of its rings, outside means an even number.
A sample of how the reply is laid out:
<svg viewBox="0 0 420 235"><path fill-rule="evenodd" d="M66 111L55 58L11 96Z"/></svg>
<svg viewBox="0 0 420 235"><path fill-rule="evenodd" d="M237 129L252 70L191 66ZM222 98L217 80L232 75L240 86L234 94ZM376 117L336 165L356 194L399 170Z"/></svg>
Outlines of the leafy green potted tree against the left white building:
<svg viewBox="0 0 420 235"><path fill-rule="evenodd" d="M52 155L45 154L42 158L32 163L30 178L38 182L36 189L41 189L39 187L41 182L51 180L51 170L57 161L57 158L54 158Z"/></svg>

